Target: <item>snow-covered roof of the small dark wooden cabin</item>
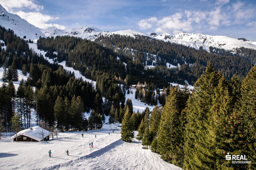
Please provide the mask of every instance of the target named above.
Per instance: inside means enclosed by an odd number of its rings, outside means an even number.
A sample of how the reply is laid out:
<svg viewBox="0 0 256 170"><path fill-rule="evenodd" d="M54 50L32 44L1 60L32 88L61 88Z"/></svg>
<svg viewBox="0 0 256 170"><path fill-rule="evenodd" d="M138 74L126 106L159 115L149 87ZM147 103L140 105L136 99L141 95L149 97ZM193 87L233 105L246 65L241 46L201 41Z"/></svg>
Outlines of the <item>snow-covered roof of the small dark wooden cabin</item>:
<svg viewBox="0 0 256 170"><path fill-rule="evenodd" d="M32 128L32 130L25 129L23 131L18 132L18 136L24 135L26 137L30 137L30 138L32 137L33 139L35 139L37 141L42 141L42 129L43 128L40 126L34 126L31 128ZM44 129L44 137L47 137L48 135L50 135L50 132ZM16 134L11 137L11 139L14 139L14 138L16 138Z"/></svg>

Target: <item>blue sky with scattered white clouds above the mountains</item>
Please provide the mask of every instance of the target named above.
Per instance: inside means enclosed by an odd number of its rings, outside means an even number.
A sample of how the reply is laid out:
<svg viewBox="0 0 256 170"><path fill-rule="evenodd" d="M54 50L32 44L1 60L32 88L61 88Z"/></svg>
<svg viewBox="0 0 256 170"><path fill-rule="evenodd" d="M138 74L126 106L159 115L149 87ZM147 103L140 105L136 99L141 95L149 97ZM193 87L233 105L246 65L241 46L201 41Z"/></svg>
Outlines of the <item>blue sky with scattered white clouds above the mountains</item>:
<svg viewBox="0 0 256 170"><path fill-rule="evenodd" d="M255 0L0 0L0 4L40 28L90 25L104 31L186 31L256 41Z"/></svg>

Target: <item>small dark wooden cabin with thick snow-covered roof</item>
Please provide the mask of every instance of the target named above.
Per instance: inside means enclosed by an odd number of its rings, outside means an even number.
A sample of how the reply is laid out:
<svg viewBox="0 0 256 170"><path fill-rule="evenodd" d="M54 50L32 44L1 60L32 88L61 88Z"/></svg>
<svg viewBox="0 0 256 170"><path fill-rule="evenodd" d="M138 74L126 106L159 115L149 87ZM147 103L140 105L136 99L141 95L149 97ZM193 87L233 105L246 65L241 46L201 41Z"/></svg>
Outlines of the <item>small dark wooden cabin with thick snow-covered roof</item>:
<svg viewBox="0 0 256 170"><path fill-rule="evenodd" d="M39 142L43 140L49 141L50 132L43 129L40 126L30 127L23 131L18 132L17 141L18 142ZM16 134L11 137L13 141L16 141Z"/></svg>

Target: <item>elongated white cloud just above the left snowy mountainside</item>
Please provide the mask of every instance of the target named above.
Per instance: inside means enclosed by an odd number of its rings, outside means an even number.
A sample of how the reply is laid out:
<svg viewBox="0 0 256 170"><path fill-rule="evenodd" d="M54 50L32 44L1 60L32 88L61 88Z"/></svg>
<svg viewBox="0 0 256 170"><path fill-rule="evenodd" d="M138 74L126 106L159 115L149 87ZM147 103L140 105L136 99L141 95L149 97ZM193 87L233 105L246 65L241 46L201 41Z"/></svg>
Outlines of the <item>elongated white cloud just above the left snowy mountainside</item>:
<svg viewBox="0 0 256 170"><path fill-rule="evenodd" d="M65 29L66 27L63 25L59 25L56 23L46 23L48 21L54 21L56 19L58 19L58 17L52 17L49 15L44 15L41 14L40 12L22 12L22 11L18 11L15 12L18 16L20 16L21 18L25 19L26 21L28 21L29 23L35 25L36 27L39 28L46 28L46 27L52 27L55 26L59 29Z"/></svg>

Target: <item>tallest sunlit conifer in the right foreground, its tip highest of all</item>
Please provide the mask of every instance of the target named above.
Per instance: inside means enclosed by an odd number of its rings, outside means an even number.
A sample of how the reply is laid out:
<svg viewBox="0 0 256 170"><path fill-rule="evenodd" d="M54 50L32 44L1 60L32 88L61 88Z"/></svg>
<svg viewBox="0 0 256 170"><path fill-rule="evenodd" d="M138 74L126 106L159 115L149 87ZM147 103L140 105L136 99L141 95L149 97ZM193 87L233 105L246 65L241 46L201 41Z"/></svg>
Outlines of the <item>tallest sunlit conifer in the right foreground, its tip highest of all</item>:
<svg viewBox="0 0 256 170"><path fill-rule="evenodd" d="M219 77L209 62L204 74L194 84L194 91L184 112L187 121L184 133L184 168L216 168L216 158L212 154L214 147L208 145L208 127L214 89L218 86Z"/></svg>

